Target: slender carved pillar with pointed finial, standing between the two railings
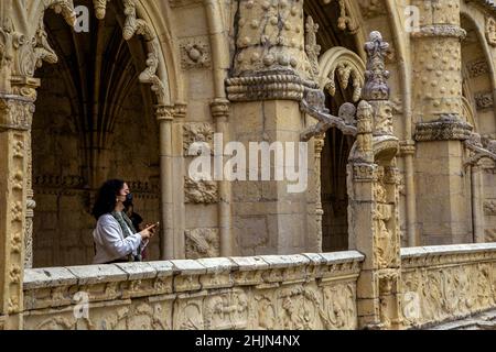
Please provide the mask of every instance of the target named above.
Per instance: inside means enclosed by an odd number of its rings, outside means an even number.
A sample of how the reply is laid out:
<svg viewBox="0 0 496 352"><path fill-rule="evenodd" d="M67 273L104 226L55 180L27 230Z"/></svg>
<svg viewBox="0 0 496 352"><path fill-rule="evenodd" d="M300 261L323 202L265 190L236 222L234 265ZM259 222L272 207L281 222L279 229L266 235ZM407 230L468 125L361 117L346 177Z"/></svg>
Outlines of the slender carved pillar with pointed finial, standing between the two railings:
<svg viewBox="0 0 496 352"><path fill-rule="evenodd" d="M368 329L398 329L400 319L399 141L392 131L385 69L388 43L373 32L366 84L357 113L357 140L349 157L349 244L365 254L357 283L358 324Z"/></svg>

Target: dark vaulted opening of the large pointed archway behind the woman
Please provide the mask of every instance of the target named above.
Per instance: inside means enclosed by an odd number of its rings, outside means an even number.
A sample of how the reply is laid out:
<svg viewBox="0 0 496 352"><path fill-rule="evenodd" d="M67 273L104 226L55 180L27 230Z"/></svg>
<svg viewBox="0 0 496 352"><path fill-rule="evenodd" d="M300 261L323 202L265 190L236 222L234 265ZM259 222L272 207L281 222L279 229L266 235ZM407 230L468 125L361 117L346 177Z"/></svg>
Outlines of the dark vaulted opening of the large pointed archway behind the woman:
<svg viewBox="0 0 496 352"><path fill-rule="evenodd" d="M74 33L55 14L45 15L58 64L37 72L43 82L32 131L37 267L91 263L89 211L107 178L125 179L137 212L160 219L157 98L140 84L147 48L139 38L122 37L121 10L109 3L105 21L91 16L88 33ZM150 258L159 257L158 240Z"/></svg>

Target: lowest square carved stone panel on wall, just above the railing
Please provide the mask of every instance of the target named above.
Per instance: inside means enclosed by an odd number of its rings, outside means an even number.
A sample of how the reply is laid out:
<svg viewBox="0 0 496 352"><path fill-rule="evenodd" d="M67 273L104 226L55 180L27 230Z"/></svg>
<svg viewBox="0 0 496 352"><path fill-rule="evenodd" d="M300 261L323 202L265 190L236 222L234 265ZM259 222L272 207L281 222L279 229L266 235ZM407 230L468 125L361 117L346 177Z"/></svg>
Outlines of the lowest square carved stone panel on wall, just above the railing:
<svg viewBox="0 0 496 352"><path fill-rule="evenodd" d="M217 257L220 254L218 229L186 230L186 257L197 260L202 257Z"/></svg>

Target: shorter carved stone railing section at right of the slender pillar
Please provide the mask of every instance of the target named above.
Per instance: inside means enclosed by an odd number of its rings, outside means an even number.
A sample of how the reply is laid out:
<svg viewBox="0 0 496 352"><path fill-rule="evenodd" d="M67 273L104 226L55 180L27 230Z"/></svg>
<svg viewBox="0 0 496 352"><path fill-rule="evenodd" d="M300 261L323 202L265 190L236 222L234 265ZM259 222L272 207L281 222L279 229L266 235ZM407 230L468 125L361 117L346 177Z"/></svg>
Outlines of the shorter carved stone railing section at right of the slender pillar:
<svg viewBox="0 0 496 352"><path fill-rule="evenodd" d="M496 243L401 250L403 322L428 327L496 307Z"/></svg>

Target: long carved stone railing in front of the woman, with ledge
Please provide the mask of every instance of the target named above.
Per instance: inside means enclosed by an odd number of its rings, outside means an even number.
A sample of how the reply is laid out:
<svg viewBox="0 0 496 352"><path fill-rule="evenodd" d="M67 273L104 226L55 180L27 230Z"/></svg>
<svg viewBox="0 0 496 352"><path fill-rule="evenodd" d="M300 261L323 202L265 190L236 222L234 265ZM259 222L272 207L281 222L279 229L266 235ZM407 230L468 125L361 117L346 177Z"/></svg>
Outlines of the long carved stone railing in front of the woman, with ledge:
<svg viewBox="0 0 496 352"><path fill-rule="evenodd" d="M355 251L26 270L24 329L356 329Z"/></svg>

